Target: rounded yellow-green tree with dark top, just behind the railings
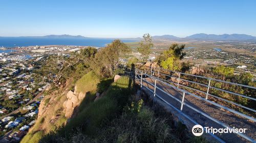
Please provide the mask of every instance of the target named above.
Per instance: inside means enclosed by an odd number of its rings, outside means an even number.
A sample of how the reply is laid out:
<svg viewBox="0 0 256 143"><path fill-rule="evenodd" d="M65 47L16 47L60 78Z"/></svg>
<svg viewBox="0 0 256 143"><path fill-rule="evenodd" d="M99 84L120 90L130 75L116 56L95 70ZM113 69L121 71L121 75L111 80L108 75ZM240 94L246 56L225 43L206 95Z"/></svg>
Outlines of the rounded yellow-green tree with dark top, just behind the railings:
<svg viewBox="0 0 256 143"><path fill-rule="evenodd" d="M169 49L164 51L159 57L158 62L161 67L169 70L178 70L181 68L180 60L186 55L184 50L185 45L174 43L170 45Z"/></svg>

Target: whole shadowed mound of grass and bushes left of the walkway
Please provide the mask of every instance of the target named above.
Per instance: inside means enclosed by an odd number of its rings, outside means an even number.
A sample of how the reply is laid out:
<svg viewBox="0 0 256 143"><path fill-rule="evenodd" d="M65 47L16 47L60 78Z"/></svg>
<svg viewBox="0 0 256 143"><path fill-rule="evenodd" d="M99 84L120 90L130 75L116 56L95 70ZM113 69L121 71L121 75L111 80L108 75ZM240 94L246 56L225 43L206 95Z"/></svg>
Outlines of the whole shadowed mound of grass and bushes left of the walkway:
<svg viewBox="0 0 256 143"><path fill-rule="evenodd" d="M194 137L187 136L184 126L174 127L170 114L155 112L134 96L133 91L133 80L121 77L102 98L88 103L65 127L40 141L194 142ZM200 142L206 141L200 139Z"/></svg>

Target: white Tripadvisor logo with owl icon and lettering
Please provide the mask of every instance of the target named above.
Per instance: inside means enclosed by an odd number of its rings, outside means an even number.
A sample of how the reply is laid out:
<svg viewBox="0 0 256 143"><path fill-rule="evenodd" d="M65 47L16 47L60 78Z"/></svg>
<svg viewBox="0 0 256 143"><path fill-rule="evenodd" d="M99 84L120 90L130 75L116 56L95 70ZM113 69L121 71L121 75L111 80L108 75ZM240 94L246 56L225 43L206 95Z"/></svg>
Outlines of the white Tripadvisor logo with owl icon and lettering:
<svg viewBox="0 0 256 143"><path fill-rule="evenodd" d="M219 129L216 129L216 128L212 128L212 127L202 127L201 125L195 125L193 128L192 128L192 133L195 135L195 136L201 136L203 133L204 133L204 129L205 129L205 133L212 133L212 134L215 134L215 133L245 133L245 131L247 129L245 128L219 128Z"/></svg>

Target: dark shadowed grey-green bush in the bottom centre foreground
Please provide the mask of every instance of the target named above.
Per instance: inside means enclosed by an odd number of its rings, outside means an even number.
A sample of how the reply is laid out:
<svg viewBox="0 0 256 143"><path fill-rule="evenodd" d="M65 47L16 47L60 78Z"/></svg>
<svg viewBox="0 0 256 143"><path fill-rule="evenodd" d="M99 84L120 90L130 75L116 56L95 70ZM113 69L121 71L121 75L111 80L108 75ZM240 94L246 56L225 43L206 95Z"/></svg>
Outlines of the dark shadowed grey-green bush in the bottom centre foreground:
<svg viewBox="0 0 256 143"><path fill-rule="evenodd" d="M173 142L170 127L164 118L143 107L138 114L124 112L98 131L95 142Z"/></svg>

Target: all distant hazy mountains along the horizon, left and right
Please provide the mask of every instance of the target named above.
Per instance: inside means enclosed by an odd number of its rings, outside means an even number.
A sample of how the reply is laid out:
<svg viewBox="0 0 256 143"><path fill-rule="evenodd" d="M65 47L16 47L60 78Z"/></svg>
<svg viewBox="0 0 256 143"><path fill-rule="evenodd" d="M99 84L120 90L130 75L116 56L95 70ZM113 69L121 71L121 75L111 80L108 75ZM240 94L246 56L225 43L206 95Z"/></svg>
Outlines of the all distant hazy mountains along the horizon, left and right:
<svg viewBox="0 0 256 143"><path fill-rule="evenodd" d="M84 37L81 35L72 36L72 35L47 35L47 36L23 36L29 38L92 38L92 37ZM197 41L248 41L248 42L256 42L256 37L246 34L194 34L191 36L187 36L185 38L176 37L173 35L162 35L162 36L152 36L153 40L173 40L173 41L188 41L188 40L197 40ZM96 39L116 39L116 38L96 38ZM134 40L139 41L142 38L118 38L123 40Z"/></svg>

